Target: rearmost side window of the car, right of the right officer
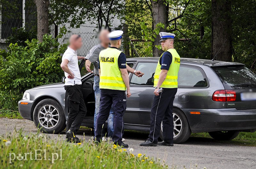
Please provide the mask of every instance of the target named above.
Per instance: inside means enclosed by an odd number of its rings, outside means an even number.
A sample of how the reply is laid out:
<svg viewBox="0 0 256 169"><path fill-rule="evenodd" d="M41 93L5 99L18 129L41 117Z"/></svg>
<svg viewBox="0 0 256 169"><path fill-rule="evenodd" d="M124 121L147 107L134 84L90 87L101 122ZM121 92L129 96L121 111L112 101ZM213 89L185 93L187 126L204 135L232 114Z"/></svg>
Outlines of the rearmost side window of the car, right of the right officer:
<svg viewBox="0 0 256 169"><path fill-rule="evenodd" d="M206 75L198 67L180 65L178 75L179 88L207 87Z"/></svg>

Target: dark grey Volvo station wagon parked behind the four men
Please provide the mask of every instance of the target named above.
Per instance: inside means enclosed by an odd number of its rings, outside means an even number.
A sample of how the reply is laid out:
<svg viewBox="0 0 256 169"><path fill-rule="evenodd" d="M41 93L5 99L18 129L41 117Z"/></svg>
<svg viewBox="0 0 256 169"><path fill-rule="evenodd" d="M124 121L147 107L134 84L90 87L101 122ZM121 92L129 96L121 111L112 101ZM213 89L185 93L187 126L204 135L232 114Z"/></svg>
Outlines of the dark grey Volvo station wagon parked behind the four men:
<svg viewBox="0 0 256 169"><path fill-rule="evenodd" d="M127 59L130 67L144 75L129 74L132 96L127 98L124 115L126 130L149 131L158 60ZM88 109L82 125L88 127L93 127L95 109L93 76L87 73L82 77ZM209 132L214 139L230 140L240 131L256 131L256 75L243 64L181 58L178 86L173 103L174 143L185 142L191 132ZM65 104L64 84L56 83L27 90L19 101L19 111L42 131L59 133L66 127Z"/></svg>

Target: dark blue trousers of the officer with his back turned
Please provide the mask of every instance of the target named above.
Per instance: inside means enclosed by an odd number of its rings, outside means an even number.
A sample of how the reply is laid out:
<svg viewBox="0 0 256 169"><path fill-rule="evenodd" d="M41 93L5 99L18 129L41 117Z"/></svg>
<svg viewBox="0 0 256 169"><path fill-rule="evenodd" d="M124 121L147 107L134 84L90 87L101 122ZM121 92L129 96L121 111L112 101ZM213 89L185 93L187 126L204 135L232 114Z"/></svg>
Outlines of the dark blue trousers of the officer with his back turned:
<svg viewBox="0 0 256 169"><path fill-rule="evenodd" d="M126 109L126 95L125 91L121 90L100 90L100 111L96 120L96 140L101 141L104 136L104 123L108 119L111 105L113 104L114 111L114 133L113 142L121 144L122 136L124 134L124 121L123 116Z"/></svg>

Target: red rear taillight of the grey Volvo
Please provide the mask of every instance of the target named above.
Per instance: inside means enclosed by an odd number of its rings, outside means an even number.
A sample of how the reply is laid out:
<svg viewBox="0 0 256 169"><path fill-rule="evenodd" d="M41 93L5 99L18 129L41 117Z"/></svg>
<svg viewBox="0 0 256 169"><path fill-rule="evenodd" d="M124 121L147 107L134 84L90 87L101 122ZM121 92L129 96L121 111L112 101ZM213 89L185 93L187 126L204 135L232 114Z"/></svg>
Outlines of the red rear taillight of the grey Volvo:
<svg viewBox="0 0 256 169"><path fill-rule="evenodd" d="M215 102L236 101L236 91L235 90L217 90L213 93L212 100Z"/></svg>

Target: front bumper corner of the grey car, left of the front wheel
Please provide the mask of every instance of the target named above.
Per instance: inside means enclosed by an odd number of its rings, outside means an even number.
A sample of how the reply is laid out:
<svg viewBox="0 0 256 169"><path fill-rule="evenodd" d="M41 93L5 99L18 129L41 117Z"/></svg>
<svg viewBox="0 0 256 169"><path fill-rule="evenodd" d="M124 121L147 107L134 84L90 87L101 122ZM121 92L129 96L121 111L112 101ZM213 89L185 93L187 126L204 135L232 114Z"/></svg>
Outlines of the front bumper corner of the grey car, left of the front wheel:
<svg viewBox="0 0 256 169"><path fill-rule="evenodd" d="M21 102L28 102L28 104L20 104ZM31 110L32 110L33 103L34 103L34 100L20 100L18 102L18 108L19 108L21 117L23 117L24 119L33 121L33 119L31 118Z"/></svg>

